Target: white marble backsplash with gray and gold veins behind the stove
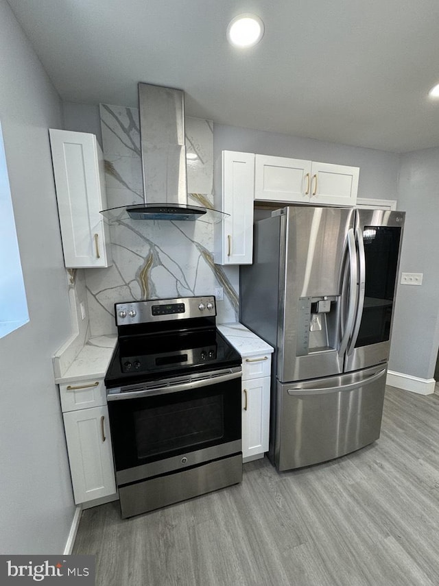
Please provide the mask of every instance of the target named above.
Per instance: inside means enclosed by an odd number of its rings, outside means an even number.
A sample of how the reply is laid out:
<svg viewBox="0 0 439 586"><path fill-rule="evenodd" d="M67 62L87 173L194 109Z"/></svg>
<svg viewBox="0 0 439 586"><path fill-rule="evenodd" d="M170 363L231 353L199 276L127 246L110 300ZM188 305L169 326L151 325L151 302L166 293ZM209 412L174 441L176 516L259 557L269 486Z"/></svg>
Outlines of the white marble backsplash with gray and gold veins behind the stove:
<svg viewBox="0 0 439 586"><path fill-rule="evenodd" d="M136 108L100 108L106 160L108 208L143 202L143 179ZM186 118L189 199L193 205L213 206L213 123ZM161 297L213 295L219 322L236 321L237 267L213 263L213 224L197 221L115 219L110 223L113 265L84 271L91 335L115 332L114 304Z"/></svg>

